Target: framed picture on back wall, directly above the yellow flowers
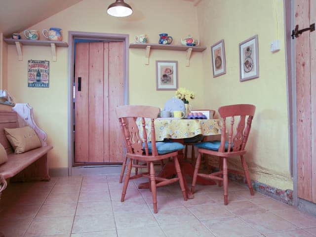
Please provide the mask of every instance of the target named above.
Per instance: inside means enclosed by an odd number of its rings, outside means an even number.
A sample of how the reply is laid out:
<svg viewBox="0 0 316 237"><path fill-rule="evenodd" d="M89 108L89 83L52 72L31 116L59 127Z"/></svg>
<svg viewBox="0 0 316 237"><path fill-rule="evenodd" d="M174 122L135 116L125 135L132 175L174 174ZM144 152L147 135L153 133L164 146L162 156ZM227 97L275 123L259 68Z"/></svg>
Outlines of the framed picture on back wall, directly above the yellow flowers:
<svg viewBox="0 0 316 237"><path fill-rule="evenodd" d="M156 90L178 89L178 61L156 61Z"/></svg>

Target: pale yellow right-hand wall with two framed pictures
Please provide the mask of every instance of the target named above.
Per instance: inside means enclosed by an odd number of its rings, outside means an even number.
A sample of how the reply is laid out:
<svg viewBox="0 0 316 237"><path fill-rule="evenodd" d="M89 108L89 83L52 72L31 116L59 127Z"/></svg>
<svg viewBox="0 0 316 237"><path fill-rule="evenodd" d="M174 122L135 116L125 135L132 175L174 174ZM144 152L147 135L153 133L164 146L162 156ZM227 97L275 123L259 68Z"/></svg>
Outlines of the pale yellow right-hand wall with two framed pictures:
<svg viewBox="0 0 316 237"><path fill-rule="evenodd" d="M293 189L289 173L283 0L202 0L197 7L200 40L225 40L227 74L212 77L210 47L203 53L205 106L249 103L256 106L246 155L251 178ZM238 44L259 38L260 78L239 82ZM281 50L270 52L270 42ZM209 105L209 106L208 106ZM236 167L237 160L230 162ZM238 160L239 164L239 160ZM240 167L239 165L237 165Z"/></svg>

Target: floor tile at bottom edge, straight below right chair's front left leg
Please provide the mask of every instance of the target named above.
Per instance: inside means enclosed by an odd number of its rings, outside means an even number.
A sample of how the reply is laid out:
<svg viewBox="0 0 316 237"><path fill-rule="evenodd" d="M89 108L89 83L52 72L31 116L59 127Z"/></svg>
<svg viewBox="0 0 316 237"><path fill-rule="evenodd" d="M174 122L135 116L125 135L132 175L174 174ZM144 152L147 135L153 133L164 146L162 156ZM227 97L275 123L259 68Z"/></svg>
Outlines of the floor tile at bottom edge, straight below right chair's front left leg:
<svg viewBox="0 0 316 237"><path fill-rule="evenodd" d="M217 237L246 237L260 234L237 217L202 221Z"/></svg>

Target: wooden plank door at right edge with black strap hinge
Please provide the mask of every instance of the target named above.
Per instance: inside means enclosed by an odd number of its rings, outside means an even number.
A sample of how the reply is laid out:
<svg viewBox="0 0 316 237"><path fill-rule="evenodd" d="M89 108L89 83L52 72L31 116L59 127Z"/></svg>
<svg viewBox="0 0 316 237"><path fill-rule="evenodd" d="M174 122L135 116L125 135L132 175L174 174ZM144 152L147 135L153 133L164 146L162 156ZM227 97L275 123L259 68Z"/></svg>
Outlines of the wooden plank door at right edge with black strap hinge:
<svg viewBox="0 0 316 237"><path fill-rule="evenodd" d="M295 25L316 22L316 0L296 0ZM297 193L316 202L316 32L295 38L297 106Z"/></svg>

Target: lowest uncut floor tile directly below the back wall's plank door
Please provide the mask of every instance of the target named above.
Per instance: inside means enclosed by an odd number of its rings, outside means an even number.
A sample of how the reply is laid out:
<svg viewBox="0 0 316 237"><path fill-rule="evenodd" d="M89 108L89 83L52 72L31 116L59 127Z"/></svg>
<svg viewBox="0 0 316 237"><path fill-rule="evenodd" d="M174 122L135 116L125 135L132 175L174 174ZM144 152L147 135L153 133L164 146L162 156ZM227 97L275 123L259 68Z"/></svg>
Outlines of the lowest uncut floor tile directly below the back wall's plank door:
<svg viewBox="0 0 316 237"><path fill-rule="evenodd" d="M72 233L115 230L112 213L75 216Z"/></svg>

